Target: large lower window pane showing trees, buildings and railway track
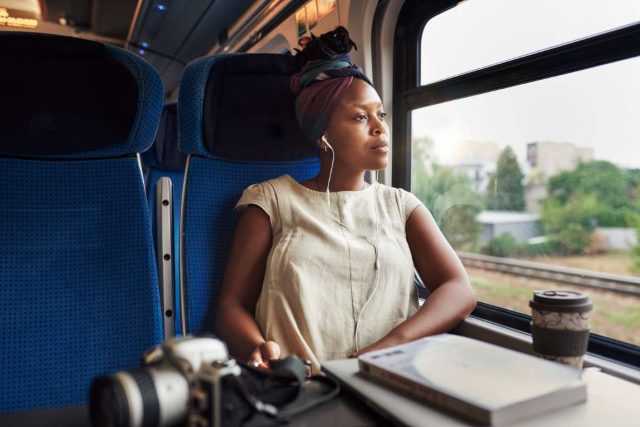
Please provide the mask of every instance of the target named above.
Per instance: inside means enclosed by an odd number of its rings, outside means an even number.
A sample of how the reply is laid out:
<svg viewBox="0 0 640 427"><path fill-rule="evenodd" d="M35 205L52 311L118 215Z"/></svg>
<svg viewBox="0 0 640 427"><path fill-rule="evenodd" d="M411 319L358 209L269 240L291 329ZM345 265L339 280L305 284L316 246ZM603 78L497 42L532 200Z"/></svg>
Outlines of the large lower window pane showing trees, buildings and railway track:
<svg viewBox="0 0 640 427"><path fill-rule="evenodd" d="M638 76L633 58L415 110L412 192L460 252L638 276ZM579 290L594 332L640 345L640 296L463 261L480 301L530 314L533 290Z"/></svg>

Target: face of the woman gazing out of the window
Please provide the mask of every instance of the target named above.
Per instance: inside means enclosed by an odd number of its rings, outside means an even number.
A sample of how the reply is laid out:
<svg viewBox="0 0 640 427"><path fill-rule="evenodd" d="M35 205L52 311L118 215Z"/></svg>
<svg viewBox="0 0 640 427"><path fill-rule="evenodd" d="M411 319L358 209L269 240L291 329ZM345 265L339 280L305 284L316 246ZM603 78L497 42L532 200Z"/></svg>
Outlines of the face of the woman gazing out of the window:
<svg viewBox="0 0 640 427"><path fill-rule="evenodd" d="M389 161L385 115L375 89L354 79L324 132L335 151L335 163L354 171L384 169Z"/></svg>

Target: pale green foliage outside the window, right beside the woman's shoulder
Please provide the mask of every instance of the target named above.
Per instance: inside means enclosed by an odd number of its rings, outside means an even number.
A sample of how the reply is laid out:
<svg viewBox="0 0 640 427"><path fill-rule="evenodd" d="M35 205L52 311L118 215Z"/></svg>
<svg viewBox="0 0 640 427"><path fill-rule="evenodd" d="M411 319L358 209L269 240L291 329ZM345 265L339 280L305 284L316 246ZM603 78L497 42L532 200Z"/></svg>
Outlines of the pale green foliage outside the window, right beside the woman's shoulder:
<svg viewBox="0 0 640 427"><path fill-rule="evenodd" d="M482 201L469 177L433 161L433 141L413 142L411 190L429 208L447 240L456 249L473 249L481 226L475 220Z"/></svg>

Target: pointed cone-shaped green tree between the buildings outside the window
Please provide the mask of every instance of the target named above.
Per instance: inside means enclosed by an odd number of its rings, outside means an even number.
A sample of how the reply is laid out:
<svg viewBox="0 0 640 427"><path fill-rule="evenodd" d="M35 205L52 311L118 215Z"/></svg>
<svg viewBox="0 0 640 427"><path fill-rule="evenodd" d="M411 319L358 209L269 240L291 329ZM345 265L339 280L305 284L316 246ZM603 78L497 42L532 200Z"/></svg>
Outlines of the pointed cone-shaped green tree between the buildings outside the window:
<svg viewBox="0 0 640 427"><path fill-rule="evenodd" d="M518 164L518 158L511 147L505 147L498 158L496 172L489 178L487 209L524 211L526 206L523 179L524 174Z"/></svg>

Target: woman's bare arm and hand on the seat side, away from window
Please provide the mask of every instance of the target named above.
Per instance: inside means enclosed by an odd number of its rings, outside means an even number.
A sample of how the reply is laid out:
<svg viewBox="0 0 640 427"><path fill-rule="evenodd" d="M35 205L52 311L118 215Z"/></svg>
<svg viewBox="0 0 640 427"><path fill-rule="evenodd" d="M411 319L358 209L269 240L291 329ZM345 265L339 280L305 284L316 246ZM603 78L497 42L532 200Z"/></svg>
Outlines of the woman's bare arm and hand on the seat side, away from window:
<svg viewBox="0 0 640 427"><path fill-rule="evenodd" d="M231 354L264 365L280 357L280 348L274 342L265 342L254 318L271 240L269 217L259 207L249 205L236 229L216 310L218 336Z"/></svg>

